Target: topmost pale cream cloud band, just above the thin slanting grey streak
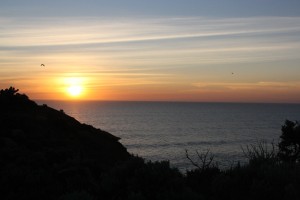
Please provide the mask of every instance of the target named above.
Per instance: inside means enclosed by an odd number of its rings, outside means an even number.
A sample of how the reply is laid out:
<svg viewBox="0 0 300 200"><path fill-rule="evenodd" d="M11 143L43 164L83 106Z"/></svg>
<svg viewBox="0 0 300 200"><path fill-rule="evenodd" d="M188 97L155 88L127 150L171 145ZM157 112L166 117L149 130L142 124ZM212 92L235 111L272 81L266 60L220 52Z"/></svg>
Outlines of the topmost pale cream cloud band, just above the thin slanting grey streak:
<svg viewBox="0 0 300 200"><path fill-rule="evenodd" d="M4 19L0 23L5 27L0 32L2 46L101 44L300 31L299 17L145 18L119 21L44 18Z"/></svg>

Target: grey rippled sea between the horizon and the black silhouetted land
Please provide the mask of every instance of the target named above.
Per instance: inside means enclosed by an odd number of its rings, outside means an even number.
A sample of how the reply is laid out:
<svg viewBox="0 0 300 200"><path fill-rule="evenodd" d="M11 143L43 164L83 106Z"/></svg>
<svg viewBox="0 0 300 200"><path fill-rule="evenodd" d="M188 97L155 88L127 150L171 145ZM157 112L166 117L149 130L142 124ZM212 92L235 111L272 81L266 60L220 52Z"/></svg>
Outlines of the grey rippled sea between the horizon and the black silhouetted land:
<svg viewBox="0 0 300 200"><path fill-rule="evenodd" d="M38 101L82 123L121 138L127 150L146 160L169 160L185 171L196 150L209 150L220 167L246 162L242 148L279 141L286 119L300 120L300 104Z"/></svg>

